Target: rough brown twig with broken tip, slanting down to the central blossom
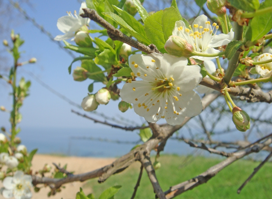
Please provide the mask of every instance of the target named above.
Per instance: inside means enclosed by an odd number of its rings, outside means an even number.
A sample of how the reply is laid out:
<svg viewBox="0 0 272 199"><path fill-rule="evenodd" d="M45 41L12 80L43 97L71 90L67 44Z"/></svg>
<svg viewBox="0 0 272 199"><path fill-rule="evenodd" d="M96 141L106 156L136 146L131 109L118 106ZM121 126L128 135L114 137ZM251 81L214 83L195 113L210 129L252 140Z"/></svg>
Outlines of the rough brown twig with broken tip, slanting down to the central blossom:
<svg viewBox="0 0 272 199"><path fill-rule="evenodd" d="M119 29L114 28L114 26L112 26L105 19L103 19L101 16L99 16L95 10L92 10L89 8L83 8L82 10L84 11L84 14L81 14L80 16L83 18L90 18L91 20L95 21L96 23L99 23L101 26L106 28L108 36L112 40L122 41L122 42L129 44L130 46L132 46L138 50L141 50L147 54L150 54L150 53L162 54L154 44L150 44L149 46L146 46L146 45L132 39L131 37L126 36Z"/></svg>

